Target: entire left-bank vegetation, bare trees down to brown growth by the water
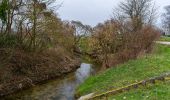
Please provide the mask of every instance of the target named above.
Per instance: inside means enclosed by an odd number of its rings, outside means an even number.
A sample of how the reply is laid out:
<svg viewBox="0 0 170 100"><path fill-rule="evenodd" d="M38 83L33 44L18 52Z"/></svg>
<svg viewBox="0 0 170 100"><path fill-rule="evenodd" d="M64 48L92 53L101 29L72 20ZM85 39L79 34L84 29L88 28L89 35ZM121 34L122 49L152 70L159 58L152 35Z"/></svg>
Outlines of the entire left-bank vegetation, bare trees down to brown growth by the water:
<svg viewBox="0 0 170 100"><path fill-rule="evenodd" d="M14 86L22 80L36 84L79 66L75 29L47 7L54 2L3 0L0 4L0 95L19 90Z"/></svg>

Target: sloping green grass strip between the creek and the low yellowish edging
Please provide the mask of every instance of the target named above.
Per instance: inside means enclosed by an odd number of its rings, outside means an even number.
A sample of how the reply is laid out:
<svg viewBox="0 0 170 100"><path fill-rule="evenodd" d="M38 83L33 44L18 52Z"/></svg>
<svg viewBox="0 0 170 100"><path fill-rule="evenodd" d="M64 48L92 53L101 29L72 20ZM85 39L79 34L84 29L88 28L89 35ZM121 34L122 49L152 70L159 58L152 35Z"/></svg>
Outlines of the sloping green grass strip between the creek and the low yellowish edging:
<svg viewBox="0 0 170 100"><path fill-rule="evenodd" d="M170 72L170 47L157 45L153 54L130 60L88 78L77 89L78 95L116 89L150 77Z"/></svg>

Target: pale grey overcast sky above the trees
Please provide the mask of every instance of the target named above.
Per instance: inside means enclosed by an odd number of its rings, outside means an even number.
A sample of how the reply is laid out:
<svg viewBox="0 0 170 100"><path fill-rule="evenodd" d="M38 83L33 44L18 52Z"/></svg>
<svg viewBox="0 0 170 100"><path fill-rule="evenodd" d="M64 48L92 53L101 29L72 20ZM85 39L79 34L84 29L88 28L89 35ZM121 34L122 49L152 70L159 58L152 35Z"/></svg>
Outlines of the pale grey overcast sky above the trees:
<svg viewBox="0 0 170 100"><path fill-rule="evenodd" d="M84 24L95 26L97 23L109 19L120 1L123 0L57 0L63 2L57 11L62 20L79 20ZM163 8L170 5L170 0L154 0L159 7L159 14ZM160 22L160 18L158 19Z"/></svg>

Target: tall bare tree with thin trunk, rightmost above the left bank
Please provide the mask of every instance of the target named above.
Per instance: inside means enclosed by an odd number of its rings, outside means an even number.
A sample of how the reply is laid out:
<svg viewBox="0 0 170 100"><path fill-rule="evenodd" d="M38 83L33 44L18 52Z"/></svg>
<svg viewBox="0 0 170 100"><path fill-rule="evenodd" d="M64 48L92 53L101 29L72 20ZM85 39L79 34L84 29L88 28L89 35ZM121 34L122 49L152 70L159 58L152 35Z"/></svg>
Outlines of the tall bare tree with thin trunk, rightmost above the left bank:
<svg viewBox="0 0 170 100"><path fill-rule="evenodd" d="M37 38L40 34L39 29L41 25L38 23L42 22L46 15L50 15L51 11L48 9L47 6L55 2L55 0L25 0L24 1L24 7L25 12L23 15L26 15L26 21L29 24L29 27L31 28L31 34L30 36L30 43L29 48L32 48L32 50L35 50L36 46L39 45L39 39ZM23 16L22 15L22 16Z"/></svg>

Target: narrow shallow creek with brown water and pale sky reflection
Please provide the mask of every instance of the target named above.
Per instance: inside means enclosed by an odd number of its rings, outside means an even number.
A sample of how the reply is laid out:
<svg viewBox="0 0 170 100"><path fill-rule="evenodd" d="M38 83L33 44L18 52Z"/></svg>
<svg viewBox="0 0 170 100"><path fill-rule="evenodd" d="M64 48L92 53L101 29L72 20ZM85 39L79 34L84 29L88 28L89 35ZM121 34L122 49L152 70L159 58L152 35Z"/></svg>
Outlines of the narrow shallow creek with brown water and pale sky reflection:
<svg viewBox="0 0 170 100"><path fill-rule="evenodd" d="M7 97L9 100L75 100L75 89L93 75L93 65L82 63L74 73Z"/></svg>

